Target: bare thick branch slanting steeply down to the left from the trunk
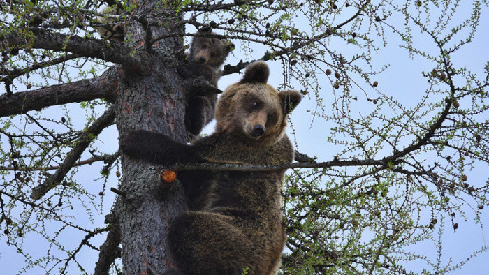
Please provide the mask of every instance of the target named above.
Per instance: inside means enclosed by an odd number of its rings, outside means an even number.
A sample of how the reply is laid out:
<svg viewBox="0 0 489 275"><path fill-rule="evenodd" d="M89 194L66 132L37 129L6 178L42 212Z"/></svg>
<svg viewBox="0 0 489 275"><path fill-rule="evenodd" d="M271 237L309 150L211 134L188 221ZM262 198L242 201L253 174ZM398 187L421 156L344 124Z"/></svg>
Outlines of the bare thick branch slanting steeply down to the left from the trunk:
<svg viewBox="0 0 489 275"><path fill-rule="evenodd" d="M85 133L82 133L78 140L78 144L71 149L64 162L59 165L59 169L56 170L56 172L54 172L54 174L52 174L43 184L34 187L31 193L31 198L38 200L42 198L45 193L48 193L48 191L60 184L61 180L68 174L68 171L73 167L75 162L78 161L78 158L80 158L83 151L85 151L92 140L94 140L94 137L100 134L104 128L110 126L110 124L114 122L114 119L115 107L111 106L105 110L101 117L96 119L96 121L87 128Z"/></svg>

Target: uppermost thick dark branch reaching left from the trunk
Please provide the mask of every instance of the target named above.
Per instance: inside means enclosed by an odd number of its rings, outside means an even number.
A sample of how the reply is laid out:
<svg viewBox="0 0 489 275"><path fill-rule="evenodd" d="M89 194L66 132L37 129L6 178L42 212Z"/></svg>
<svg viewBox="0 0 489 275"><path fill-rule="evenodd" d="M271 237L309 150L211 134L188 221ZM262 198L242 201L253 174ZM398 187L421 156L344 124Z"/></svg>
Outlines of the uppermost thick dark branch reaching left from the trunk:
<svg viewBox="0 0 489 275"><path fill-rule="evenodd" d="M94 38L58 34L41 28L30 28L34 37L25 38L17 34L8 34L3 40L9 47L22 47L54 50L56 52L72 52L84 57L94 57L126 66L138 64L138 60L131 57L131 50L122 43L106 43ZM29 39L29 40L27 40Z"/></svg>

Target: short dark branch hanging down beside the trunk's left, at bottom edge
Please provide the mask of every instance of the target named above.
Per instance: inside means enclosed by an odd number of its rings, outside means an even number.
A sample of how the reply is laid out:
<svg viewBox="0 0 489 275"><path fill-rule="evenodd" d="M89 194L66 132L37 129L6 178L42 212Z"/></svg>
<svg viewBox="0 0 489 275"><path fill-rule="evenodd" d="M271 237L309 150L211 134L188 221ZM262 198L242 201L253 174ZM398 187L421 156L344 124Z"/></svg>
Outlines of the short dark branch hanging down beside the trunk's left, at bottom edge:
<svg viewBox="0 0 489 275"><path fill-rule="evenodd" d="M100 246L100 254L98 255L98 261L95 266L95 275L108 274L110 265L119 258L121 255L121 248L119 243L121 242L121 235L117 225L112 224L112 228L107 234L107 239Z"/></svg>

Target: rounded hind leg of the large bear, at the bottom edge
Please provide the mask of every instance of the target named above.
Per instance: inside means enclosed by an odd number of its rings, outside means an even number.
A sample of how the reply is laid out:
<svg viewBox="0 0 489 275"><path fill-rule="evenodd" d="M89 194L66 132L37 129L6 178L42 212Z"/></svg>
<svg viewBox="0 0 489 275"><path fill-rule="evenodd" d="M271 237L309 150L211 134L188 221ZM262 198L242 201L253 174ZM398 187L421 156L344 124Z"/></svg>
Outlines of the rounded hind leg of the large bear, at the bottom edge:
<svg viewBox="0 0 489 275"><path fill-rule="evenodd" d="M221 214L188 211L168 235L177 267L187 274L255 274L257 255L249 239Z"/></svg>

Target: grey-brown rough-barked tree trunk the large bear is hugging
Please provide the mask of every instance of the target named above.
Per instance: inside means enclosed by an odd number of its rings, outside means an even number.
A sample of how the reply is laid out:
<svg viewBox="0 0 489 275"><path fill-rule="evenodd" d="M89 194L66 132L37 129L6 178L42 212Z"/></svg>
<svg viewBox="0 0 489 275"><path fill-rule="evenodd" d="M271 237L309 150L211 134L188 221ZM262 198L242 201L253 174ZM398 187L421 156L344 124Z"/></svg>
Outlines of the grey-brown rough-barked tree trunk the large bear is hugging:
<svg viewBox="0 0 489 275"><path fill-rule="evenodd" d="M139 2L136 16L159 10L156 3ZM146 129L187 140L184 128L184 89L177 76L177 52L181 38L160 40L148 50L147 29L141 24L126 26L126 44L140 54L140 66L116 67L115 105L119 138L128 131ZM152 27L152 37L175 32ZM113 213L122 244L124 274L164 274L173 267L166 236L169 223L186 209L183 191L177 184L167 193L159 192L160 167L122 155L122 177Z"/></svg>

